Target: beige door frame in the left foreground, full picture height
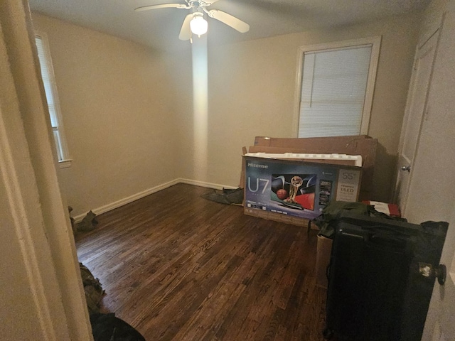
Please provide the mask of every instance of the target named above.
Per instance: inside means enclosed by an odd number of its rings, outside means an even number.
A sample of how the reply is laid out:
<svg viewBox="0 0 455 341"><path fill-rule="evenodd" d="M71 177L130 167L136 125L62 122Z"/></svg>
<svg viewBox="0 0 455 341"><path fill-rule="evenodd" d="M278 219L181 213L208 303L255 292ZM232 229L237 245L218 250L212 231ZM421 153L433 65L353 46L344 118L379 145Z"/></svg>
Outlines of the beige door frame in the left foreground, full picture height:
<svg viewBox="0 0 455 341"><path fill-rule="evenodd" d="M2 293L16 295L0 309L4 337L93 340L27 0L1 1L0 72L0 218L14 245Z"/></svg>

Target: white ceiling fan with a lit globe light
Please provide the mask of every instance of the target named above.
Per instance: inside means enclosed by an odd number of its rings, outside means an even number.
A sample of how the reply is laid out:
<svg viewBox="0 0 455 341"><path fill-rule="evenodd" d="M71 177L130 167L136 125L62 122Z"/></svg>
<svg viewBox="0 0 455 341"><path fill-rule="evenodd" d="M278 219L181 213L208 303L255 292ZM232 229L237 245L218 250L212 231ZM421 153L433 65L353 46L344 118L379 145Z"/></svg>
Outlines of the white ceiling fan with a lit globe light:
<svg viewBox="0 0 455 341"><path fill-rule="evenodd" d="M158 5L150 5L150 6L141 6L134 11L148 11L149 9L166 9L166 8L173 8L173 9L189 9L191 13L189 13L185 20L183 21L183 25L180 30L180 34L178 38L180 40L188 40L191 39L191 34L196 34L196 36L202 36L207 32L208 23L204 18L204 13L206 13L210 18L214 18L226 25L234 28L235 30L239 31L240 33L245 33L250 31L250 25L241 21L239 18L235 18L235 16L231 16L228 13L220 11L218 9L207 9L208 6L212 5L214 2L218 0L184 0L185 4L158 4Z"/></svg>

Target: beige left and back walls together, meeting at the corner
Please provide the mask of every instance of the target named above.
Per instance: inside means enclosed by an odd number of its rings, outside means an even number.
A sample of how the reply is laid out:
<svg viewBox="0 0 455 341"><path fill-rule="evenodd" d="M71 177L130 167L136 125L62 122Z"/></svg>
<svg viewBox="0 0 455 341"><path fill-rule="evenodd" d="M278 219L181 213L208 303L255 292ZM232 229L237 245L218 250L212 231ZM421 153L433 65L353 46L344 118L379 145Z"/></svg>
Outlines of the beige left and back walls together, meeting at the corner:
<svg viewBox="0 0 455 341"><path fill-rule="evenodd" d="M375 200L389 200L419 16L208 47L208 136L197 145L191 45L159 55L33 14L47 33L73 166L61 185L75 215L176 178L237 186L241 148L292 137L301 45L382 36L370 121ZM206 149L206 154L203 151Z"/></svg>

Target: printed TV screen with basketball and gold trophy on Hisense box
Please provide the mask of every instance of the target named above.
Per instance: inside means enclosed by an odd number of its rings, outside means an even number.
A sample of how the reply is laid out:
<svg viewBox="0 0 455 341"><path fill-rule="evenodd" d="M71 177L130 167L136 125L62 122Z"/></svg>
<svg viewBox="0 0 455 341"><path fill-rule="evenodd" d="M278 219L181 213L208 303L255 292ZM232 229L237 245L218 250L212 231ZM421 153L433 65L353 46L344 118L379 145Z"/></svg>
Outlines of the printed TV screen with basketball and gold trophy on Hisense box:
<svg viewBox="0 0 455 341"><path fill-rule="evenodd" d="M272 174L270 199L296 210L314 210L317 174Z"/></svg>

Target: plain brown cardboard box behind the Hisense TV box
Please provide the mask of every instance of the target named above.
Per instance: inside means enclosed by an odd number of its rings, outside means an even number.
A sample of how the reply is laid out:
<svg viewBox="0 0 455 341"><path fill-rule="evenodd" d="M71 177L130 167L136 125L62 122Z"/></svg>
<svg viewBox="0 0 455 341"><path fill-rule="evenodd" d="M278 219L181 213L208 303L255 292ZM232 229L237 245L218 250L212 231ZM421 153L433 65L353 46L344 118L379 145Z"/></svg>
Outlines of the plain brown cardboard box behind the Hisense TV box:
<svg viewBox="0 0 455 341"><path fill-rule="evenodd" d="M340 153L362 156L362 182L360 200L370 200L373 193L373 173L378 140L367 135L336 136L314 138L273 138L256 136L255 146L250 146L250 153ZM245 153L245 152L244 152ZM243 171L244 168L242 168ZM244 184L241 175L240 187Z"/></svg>

